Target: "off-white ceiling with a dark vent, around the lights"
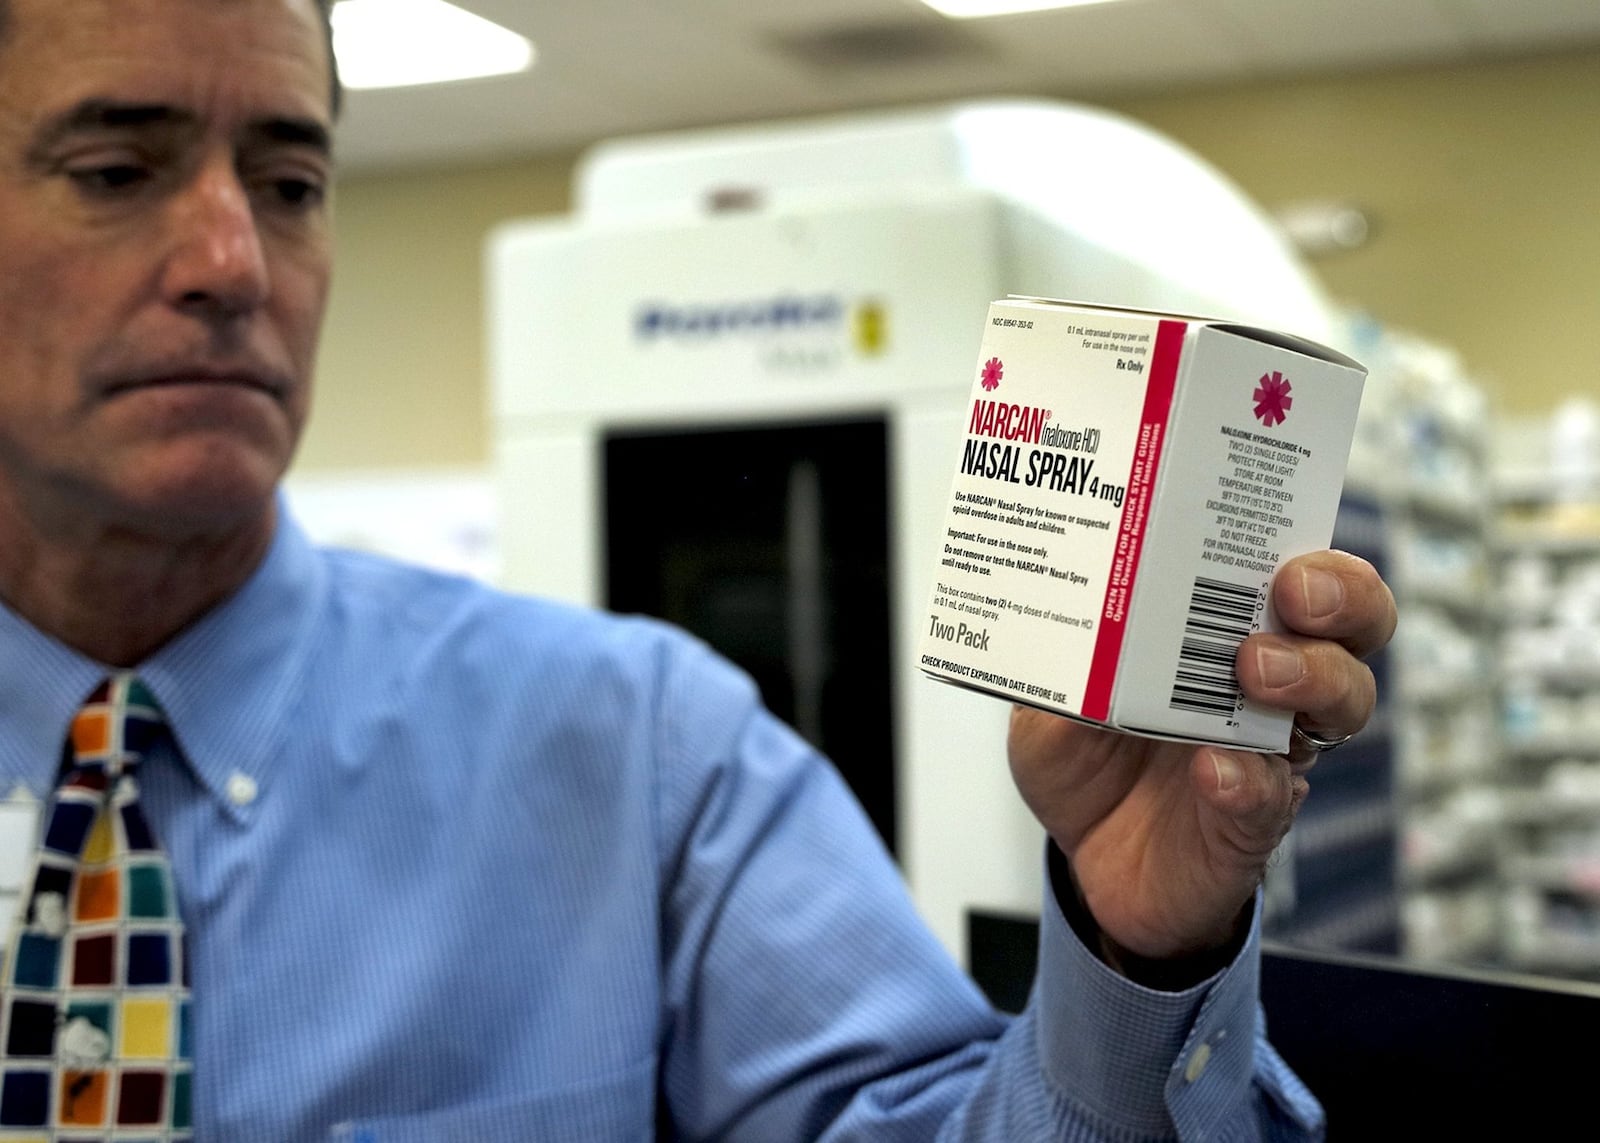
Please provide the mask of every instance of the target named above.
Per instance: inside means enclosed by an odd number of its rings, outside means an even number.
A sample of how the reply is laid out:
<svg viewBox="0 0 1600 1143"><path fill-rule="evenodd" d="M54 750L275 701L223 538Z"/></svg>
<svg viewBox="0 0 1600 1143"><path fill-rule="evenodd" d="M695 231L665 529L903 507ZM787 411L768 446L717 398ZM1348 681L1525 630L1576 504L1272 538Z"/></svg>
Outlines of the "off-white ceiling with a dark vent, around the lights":
<svg viewBox="0 0 1600 1143"><path fill-rule="evenodd" d="M347 173L952 98L1184 86L1600 46L1595 0L1122 0L950 21L917 0L454 0L533 72L352 91Z"/></svg>

